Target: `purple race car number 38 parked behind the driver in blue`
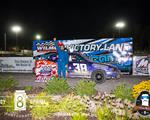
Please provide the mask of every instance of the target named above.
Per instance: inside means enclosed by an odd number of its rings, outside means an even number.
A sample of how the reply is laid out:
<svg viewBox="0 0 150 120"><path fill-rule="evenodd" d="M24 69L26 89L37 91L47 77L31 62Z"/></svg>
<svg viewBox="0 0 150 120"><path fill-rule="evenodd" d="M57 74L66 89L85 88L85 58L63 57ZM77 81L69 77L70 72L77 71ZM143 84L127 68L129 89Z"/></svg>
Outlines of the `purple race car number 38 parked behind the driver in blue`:
<svg viewBox="0 0 150 120"><path fill-rule="evenodd" d="M39 57L37 58L39 59ZM34 69L36 75L52 76L57 74L57 53L41 56L42 60L38 59L36 60L36 68ZM41 64L41 61L45 62L45 65ZM42 67L42 65L46 68ZM91 78L95 82L101 83L106 79L120 78L120 71L111 64L97 63L78 53L69 53L67 77Z"/></svg>

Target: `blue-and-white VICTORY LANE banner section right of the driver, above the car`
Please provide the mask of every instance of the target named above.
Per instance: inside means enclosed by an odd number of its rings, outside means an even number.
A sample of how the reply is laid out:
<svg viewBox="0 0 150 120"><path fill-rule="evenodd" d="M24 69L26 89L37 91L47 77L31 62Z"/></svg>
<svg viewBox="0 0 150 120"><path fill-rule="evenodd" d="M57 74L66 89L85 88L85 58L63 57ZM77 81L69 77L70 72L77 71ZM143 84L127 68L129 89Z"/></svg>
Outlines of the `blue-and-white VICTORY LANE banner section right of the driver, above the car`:
<svg viewBox="0 0 150 120"><path fill-rule="evenodd" d="M99 63L110 63L122 73L132 70L132 38L108 38L63 41L72 52L80 52L88 59Z"/></svg>

